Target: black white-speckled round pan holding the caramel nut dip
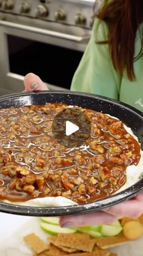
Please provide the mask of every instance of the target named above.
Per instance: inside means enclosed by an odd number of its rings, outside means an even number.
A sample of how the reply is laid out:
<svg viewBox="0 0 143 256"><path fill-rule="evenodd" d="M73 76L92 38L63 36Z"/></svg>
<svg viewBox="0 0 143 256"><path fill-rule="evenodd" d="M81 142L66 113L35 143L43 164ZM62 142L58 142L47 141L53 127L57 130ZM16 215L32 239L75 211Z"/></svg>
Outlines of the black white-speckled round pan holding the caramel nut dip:
<svg viewBox="0 0 143 256"><path fill-rule="evenodd" d="M78 105L83 108L90 108L111 116L116 116L133 130L143 150L143 114L133 107L105 97L86 93L73 93L71 91L37 91L35 93L11 94L0 97L0 108L45 104L47 102L62 102L68 105ZM135 197L141 191L143 191L143 179L140 179L135 185L118 194L88 204L69 207L25 207L0 202L0 212L29 216L79 215L111 207L119 202Z"/></svg>

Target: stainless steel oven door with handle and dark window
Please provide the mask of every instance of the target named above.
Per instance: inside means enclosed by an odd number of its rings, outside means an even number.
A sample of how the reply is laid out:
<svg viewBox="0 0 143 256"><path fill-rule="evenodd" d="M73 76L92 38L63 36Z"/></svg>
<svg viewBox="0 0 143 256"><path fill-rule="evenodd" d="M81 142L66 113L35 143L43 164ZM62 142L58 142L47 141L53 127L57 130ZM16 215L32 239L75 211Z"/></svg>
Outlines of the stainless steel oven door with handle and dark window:
<svg viewBox="0 0 143 256"><path fill-rule="evenodd" d="M56 23L46 23L43 29L22 19L22 24L13 22L12 16L0 20L0 94L22 91L24 76L30 72L38 74L51 90L70 89L90 32L85 34L82 28L75 32Z"/></svg>

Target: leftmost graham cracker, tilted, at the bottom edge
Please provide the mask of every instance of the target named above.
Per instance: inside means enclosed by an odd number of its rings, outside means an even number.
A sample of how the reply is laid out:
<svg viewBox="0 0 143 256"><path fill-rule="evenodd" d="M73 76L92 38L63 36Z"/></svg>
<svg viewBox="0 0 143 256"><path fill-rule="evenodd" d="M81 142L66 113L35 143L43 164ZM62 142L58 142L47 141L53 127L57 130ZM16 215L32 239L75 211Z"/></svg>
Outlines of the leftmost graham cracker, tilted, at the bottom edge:
<svg viewBox="0 0 143 256"><path fill-rule="evenodd" d="M48 250L48 245L44 243L35 233L24 236L24 241L29 247L33 249L36 254L41 254L41 252Z"/></svg>

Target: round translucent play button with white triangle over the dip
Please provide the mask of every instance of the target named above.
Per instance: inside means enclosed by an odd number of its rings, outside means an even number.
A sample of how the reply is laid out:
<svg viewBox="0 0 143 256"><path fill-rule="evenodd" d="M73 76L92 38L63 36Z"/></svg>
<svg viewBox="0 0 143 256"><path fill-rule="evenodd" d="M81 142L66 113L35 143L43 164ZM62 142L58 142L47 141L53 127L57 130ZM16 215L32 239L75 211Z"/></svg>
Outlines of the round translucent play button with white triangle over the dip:
<svg viewBox="0 0 143 256"><path fill-rule="evenodd" d="M80 108L65 108L53 119L53 138L66 148L84 145L90 137L90 132L90 120Z"/></svg>

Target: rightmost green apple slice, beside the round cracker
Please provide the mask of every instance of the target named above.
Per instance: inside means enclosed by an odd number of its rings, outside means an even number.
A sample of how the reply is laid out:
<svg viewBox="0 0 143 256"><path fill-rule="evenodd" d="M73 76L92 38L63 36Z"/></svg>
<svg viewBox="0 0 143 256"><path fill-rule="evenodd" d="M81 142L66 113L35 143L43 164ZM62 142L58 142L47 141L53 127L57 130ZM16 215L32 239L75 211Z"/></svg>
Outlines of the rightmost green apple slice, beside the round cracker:
<svg viewBox="0 0 143 256"><path fill-rule="evenodd" d="M102 236L115 236L121 233L121 226L103 225L101 229Z"/></svg>

